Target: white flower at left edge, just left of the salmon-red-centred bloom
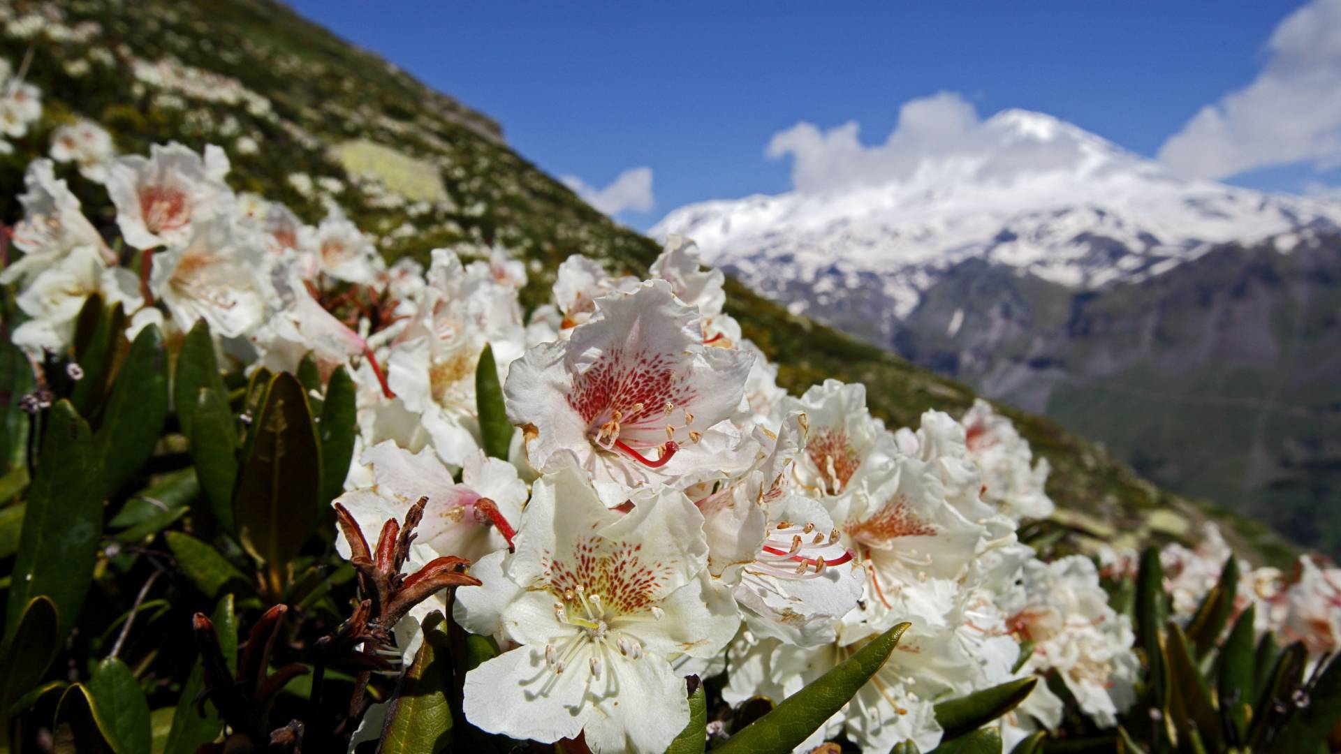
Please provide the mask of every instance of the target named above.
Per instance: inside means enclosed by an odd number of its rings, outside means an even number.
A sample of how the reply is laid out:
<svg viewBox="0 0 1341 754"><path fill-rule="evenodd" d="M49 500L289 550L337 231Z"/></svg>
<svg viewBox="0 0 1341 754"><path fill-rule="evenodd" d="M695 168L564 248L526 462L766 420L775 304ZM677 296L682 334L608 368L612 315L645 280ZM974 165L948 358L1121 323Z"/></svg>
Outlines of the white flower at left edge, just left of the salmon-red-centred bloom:
<svg viewBox="0 0 1341 754"><path fill-rule="evenodd" d="M115 259L64 180L58 180L50 160L34 160L23 176L27 192L19 197L23 219L13 228L13 246L23 259L0 272L0 283L28 280L60 262L76 248L90 248L102 262Z"/></svg>

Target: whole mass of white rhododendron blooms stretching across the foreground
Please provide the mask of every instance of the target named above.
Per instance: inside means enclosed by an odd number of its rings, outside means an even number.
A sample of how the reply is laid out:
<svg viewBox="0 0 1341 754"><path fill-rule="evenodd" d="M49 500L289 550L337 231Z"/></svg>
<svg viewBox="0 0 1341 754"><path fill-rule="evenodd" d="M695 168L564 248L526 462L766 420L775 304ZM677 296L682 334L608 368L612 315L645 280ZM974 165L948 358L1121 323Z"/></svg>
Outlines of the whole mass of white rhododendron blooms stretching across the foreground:
<svg viewBox="0 0 1341 754"><path fill-rule="evenodd" d="M506 250L388 266L334 203L310 225L236 195L217 146L117 157L82 122L51 156L28 168L21 256L0 275L27 315L13 341L67 347L97 292L129 334L154 323L172 341L204 321L247 369L311 358L325 381L345 368L358 436L338 549L361 557L347 531L413 507L410 568L473 561L477 586L422 601L394 633L409 655L443 610L498 641L464 682L479 729L658 753L689 722L685 676L724 672L730 703L780 700L904 621L892 659L803 749L842 733L864 751L931 750L935 703L1030 675L1059 678L1100 727L1133 703L1133 631L1098 568L1043 562L1018 538L1053 502L1047 463L1011 421L979 401L889 428L860 384L787 394L688 240L670 239L648 279L573 255L527 314L526 268ZM123 243L99 235L58 168L105 184ZM508 457L487 453L481 377L502 385ZM1165 551L1177 616L1227 557L1214 535ZM1254 572L1240 602L1262 605L1262 631L1336 651L1338 572L1305 561L1290 581ZM999 724L1014 743L1061 716L1039 684Z"/></svg>

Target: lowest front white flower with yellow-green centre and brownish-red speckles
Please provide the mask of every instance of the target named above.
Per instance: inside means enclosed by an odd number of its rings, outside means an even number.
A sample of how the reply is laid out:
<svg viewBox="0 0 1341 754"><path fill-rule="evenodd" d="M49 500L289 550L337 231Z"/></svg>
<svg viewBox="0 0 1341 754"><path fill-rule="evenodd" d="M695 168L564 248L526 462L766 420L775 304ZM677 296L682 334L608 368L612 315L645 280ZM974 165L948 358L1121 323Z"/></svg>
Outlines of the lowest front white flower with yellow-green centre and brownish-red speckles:
<svg viewBox="0 0 1341 754"><path fill-rule="evenodd" d="M496 620L519 644L467 674L467 718L540 742L581 733L597 753L664 751L689 722L669 660L716 655L740 624L730 594L705 577L701 527L675 490L645 490L620 514L574 470L536 482L516 551L498 570L476 569L483 586L457 592L475 629L476 606L484 623L492 612L475 594L488 601L510 581Z"/></svg>

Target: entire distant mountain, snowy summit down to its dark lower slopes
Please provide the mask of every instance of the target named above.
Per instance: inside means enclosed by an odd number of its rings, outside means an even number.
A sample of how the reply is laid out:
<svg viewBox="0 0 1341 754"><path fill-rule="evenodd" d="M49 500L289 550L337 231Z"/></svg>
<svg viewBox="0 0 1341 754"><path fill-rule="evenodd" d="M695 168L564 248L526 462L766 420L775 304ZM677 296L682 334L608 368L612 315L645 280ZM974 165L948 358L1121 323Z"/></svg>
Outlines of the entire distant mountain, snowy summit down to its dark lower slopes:
<svg viewBox="0 0 1341 754"><path fill-rule="evenodd" d="M747 284L1341 553L1341 203L1010 110L885 182L677 209ZM1226 246L1228 244L1228 246Z"/></svg>

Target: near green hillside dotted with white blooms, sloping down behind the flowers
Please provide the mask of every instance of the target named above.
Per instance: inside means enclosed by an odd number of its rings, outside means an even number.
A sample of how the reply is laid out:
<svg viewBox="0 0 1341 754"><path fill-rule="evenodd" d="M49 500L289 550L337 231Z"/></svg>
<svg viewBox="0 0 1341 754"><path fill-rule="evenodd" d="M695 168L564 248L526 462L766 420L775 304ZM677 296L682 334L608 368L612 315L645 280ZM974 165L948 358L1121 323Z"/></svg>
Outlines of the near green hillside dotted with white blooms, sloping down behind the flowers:
<svg viewBox="0 0 1341 754"><path fill-rule="evenodd" d="M0 156L5 223L19 213L27 161L47 152L56 126L87 117L125 153L169 140L219 144L235 189L279 199L308 221L335 201L389 258L503 246L527 260L531 302L570 254L644 272L658 248L510 150L488 117L270 0L8 0L0 3L0 56L43 93L43 118ZM94 221L111 225L98 186L71 182ZM789 389L825 377L862 381L873 411L896 425L916 423L928 407L964 411L974 398L735 280L728 287L731 314L780 364ZM1010 415L1053 464L1049 491L1063 510L1047 526L1059 533L1189 537L1196 522L1216 517L1261 559L1289 557L1290 546L1261 525L1168 494L1057 424Z"/></svg>

